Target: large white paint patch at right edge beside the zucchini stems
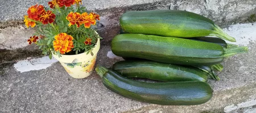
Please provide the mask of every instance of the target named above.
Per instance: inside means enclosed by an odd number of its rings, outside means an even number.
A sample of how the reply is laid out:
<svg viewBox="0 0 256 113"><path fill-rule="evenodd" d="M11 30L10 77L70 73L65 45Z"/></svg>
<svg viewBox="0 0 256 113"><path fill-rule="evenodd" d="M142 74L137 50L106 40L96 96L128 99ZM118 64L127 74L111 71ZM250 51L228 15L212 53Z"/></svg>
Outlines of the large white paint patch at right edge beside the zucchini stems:
<svg viewBox="0 0 256 113"><path fill-rule="evenodd" d="M228 42L230 44L247 46L249 42L256 42L256 23L230 25L224 31L237 40Z"/></svg>

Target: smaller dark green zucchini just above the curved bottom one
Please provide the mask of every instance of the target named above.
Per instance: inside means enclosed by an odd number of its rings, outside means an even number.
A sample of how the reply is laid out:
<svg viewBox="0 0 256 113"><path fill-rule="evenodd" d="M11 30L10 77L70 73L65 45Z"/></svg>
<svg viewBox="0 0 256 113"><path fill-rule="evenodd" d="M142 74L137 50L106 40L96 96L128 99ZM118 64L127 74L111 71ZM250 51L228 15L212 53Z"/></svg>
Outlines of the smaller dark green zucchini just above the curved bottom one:
<svg viewBox="0 0 256 113"><path fill-rule="evenodd" d="M159 63L150 60L123 60L113 64L112 69L125 77L137 77L157 81L204 81L207 72L195 67Z"/></svg>

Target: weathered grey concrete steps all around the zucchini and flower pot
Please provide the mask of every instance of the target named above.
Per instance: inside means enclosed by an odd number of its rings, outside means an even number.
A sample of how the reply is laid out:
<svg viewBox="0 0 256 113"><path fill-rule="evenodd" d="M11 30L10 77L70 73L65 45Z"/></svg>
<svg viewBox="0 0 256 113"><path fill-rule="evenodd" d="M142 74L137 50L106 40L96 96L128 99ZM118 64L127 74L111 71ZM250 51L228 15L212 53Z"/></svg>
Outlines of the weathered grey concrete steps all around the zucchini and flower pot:
<svg viewBox="0 0 256 113"><path fill-rule="evenodd" d="M224 60L224 70L218 73L221 80L209 81L213 98L196 106L133 101L105 88L96 72L86 79L73 79L59 62L40 56L37 47L26 42L35 29L24 27L23 15L36 3L46 6L42 0L0 1L0 112L255 112L256 23L237 24L255 21L254 0L83 1L105 20L97 24L104 38L97 56L101 66L123 60L112 54L110 41L119 33L119 16L130 10L192 11L224 28L236 38L234 44L248 46L248 53Z"/></svg>

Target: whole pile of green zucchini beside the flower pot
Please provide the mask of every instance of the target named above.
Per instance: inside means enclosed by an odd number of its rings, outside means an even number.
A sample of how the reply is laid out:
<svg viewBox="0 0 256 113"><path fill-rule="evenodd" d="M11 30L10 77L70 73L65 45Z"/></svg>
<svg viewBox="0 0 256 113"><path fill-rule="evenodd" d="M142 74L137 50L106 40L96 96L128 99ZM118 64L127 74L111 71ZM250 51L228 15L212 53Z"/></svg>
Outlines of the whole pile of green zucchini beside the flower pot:
<svg viewBox="0 0 256 113"><path fill-rule="evenodd" d="M126 60L96 71L107 88L141 102L205 103L213 92L208 77L219 80L213 69L221 71L225 57L247 51L227 44L225 40L236 40L212 20L188 11L130 11L121 16L120 25L122 33L113 38L111 48Z"/></svg>

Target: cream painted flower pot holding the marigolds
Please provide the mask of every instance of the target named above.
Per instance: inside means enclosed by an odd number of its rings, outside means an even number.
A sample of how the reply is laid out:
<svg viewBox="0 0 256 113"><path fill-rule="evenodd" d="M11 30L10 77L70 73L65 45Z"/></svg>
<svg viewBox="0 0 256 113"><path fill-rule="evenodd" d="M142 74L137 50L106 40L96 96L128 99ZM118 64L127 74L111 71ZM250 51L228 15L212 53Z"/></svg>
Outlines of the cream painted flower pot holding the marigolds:
<svg viewBox="0 0 256 113"><path fill-rule="evenodd" d="M75 79L83 79L93 72L98 50L100 50L100 38L98 38L98 41L92 50L93 55L84 52L75 55L61 55L61 57L54 54L52 54L52 56L59 60L71 77Z"/></svg>

